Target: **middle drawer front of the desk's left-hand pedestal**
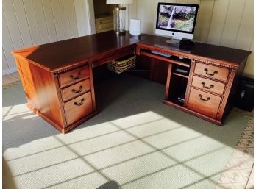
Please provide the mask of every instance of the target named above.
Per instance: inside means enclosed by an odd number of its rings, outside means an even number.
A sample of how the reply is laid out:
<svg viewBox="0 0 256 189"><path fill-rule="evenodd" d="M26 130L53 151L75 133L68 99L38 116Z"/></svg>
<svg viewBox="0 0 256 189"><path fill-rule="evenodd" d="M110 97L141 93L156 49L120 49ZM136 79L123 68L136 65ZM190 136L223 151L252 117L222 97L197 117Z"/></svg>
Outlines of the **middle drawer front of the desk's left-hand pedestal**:
<svg viewBox="0 0 256 189"><path fill-rule="evenodd" d="M63 101L67 101L68 99L72 99L75 96L79 96L80 94L88 90L90 90L90 79L86 79L75 85L71 85L68 88L64 88L63 90L61 90L61 93L63 95Z"/></svg>

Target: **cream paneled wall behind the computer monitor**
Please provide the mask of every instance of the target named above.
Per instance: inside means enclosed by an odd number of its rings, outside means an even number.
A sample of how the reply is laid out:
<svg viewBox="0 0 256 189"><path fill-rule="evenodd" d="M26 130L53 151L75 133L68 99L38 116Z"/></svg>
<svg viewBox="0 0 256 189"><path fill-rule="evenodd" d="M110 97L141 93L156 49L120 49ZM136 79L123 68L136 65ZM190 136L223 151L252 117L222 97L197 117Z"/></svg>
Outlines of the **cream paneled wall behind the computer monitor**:
<svg viewBox="0 0 256 189"><path fill-rule="evenodd" d="M158 2L199 4L193 40L253 52L253 0L134 0L128 19L140 19L141 32L154 34ZM253 60L252 53L245 76L253 77Z"/></svg>

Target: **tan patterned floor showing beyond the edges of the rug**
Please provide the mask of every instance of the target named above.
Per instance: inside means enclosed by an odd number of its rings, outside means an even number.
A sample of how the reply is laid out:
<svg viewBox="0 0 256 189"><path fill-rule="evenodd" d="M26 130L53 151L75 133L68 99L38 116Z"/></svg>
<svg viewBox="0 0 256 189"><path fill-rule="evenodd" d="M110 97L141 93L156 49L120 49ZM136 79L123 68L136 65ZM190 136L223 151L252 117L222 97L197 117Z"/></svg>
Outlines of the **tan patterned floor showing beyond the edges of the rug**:
<svg viewBox="0 0 256 189"><path fill-rule="evenodd" d="M18 72L3 76L3 88L16 84L20 81ZM235 111L246 118L249 122L246 125L235 150L227 163L216 189L252 189L253 165L254 165L254 118L253 113L235 109Z"/></svg>

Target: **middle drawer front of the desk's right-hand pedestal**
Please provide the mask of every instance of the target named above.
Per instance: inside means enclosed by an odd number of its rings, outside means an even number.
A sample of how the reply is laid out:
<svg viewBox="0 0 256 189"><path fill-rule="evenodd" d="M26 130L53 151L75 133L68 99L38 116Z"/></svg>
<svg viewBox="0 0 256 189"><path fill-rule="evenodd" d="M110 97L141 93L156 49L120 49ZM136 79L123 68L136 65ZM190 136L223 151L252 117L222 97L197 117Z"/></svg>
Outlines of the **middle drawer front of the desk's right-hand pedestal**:
<svg viewBox="0 0 256 189"><path fill-rule="evenodd" d="M221 82L215 82L210 79L205 79L199 76L193 76L192 85L196 88L201 88L213 93L222 95L224 92L225 84Z"/></svg>

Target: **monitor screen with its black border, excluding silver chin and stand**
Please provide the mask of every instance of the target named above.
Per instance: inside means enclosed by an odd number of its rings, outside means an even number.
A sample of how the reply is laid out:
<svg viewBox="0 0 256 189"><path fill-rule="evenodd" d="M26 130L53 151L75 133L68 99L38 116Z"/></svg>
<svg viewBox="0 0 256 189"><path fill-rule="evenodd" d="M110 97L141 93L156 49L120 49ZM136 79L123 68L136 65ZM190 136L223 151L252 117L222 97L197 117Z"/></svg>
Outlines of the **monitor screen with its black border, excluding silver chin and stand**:
<svg viewBox="0 0 256 189"><path fill-rule="evenodd" d="M197 4L159 3L156 29L193 34L198 7Z"/></svg>

